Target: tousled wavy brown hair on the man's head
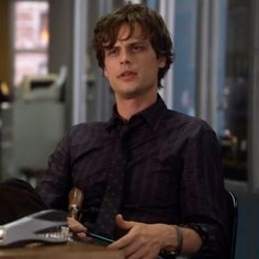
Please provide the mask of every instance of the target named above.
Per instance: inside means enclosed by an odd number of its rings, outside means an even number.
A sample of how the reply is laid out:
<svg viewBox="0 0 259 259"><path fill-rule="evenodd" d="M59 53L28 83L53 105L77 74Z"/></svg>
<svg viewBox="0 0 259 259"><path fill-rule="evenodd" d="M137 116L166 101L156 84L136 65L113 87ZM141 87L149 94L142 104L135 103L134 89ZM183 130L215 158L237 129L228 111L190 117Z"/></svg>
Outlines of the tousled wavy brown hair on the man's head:
<svg viewBox="0 0 259 259"><path fill-rule="evenodd" d="M176 56L172 41L162 18L142 3L127 2L99 20L93 31L92 41L98 64L104 69L104 45L106 48L115 44L121 26L124 24L130 26L128 37L131 37L136 23L140 25L143 36L150 40L157 57L166 57L166 66L158 71L158 88L161 88L160 80L170 68Z"/></svg>

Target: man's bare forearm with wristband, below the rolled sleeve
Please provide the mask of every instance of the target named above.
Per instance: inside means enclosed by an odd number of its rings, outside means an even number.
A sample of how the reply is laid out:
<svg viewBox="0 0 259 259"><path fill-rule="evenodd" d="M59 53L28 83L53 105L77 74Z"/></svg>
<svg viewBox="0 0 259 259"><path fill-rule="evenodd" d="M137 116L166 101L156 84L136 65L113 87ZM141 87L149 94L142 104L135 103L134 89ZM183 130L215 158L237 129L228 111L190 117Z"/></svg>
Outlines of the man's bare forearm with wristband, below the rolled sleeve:
<svg viewBox="0 0 259 259"><path fill-rule="evenodd" d="M192 228L166 224L161 225L164 228L162 250L176 251L180 248L180 254L193 255L202 247L202 238Z"/></svg>

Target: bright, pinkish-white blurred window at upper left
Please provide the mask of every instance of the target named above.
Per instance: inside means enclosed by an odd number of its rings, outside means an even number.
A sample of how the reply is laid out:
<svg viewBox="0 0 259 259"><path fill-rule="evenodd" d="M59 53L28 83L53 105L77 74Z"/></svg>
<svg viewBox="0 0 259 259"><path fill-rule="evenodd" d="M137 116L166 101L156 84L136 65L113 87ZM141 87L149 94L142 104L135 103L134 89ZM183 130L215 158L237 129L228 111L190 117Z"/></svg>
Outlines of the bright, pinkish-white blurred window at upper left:
<svg viewBox="0 0 259 259"><path fill-rule="evenodd" d="M14 3L14 75L19 87L24 75L48 72L48 2L15 1Z"/></svg>

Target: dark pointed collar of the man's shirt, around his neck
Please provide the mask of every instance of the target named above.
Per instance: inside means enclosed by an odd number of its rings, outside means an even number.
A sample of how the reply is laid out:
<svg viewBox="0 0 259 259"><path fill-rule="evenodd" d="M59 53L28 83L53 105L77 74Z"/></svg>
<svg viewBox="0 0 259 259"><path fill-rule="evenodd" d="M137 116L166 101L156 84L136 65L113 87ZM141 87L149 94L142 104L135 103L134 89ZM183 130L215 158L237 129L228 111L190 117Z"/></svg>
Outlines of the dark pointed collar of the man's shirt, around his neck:
<svg viewBox="0 0 259 259"><path fill-rule="evenodd" d="M134 117L143 117L146 123L149 124L149 126L154 130L157 130L160 120L164 116L164 113L167 111L166 103L161 99L159 94L157 94L157 101L148 106L147 109L143 110L142 112L133 115L128 122L131 122ZM117 113L116 104L113 106L113 114L111 119L108 122L106 130L110 131L112 128L116 128L119 125L123 125L125 122L121 119L121 116Z"/></svg>

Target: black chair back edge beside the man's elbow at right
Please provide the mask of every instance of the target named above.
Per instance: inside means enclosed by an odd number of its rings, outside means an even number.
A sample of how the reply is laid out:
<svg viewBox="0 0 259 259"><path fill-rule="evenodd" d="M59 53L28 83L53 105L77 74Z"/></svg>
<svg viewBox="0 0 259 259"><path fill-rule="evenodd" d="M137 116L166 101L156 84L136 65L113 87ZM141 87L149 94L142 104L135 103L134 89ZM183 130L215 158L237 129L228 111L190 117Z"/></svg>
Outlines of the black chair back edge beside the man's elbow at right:
<svg viewBox="0 0 259 259"><path fill-rule="evenodd" d="M228 249L228 258L235 259L235 250L236 250L236 235L237 235L237 219L238 219L238 204L237 198L235 194L228 190L225 191L227 209L228 209L228 233L229 233L229 249Z"/></svg>

